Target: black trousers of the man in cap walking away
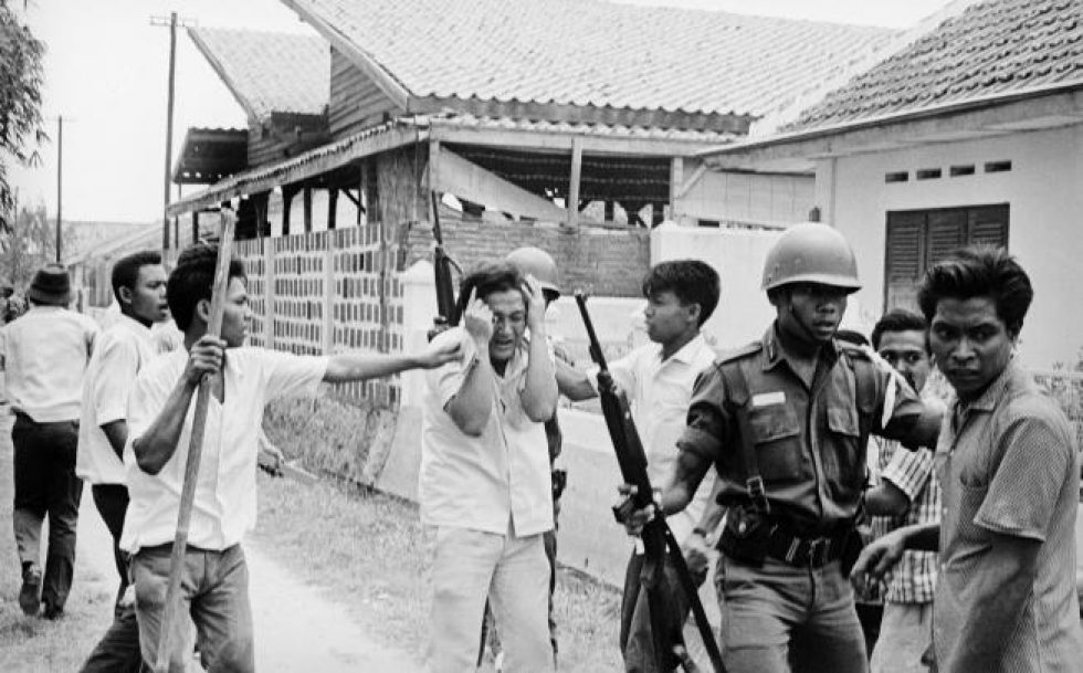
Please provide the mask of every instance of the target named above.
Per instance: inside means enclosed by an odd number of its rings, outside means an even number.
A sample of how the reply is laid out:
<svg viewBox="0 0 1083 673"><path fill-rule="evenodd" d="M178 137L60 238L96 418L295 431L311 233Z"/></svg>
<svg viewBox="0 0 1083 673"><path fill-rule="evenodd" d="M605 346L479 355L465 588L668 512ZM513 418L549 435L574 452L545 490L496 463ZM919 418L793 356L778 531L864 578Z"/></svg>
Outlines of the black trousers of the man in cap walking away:
<svg viewBox="0 0 1083 673"><path fill-rule="evenodd" d="M19 560L41 562L41 527L49 517L49 548L41 599L45 611L64 609L75 571L75 529L83 481L75 476L78 423L38 423L15 413L15 498L12 523Z"/></svg>

